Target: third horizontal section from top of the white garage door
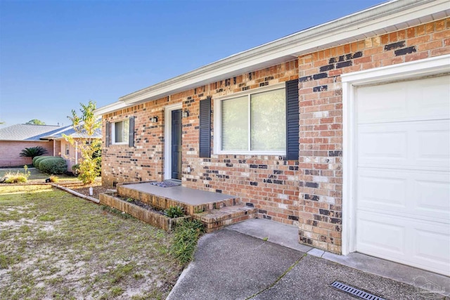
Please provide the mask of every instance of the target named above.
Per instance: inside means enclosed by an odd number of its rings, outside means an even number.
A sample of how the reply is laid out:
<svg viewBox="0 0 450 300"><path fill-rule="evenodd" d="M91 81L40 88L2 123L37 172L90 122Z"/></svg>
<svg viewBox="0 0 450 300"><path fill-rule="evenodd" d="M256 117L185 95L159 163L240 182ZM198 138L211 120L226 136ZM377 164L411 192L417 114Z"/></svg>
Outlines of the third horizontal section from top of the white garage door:
<svg viewBox="0 0 450 300"><path fill-rule="evenodd" d="M445 172L358 168L357 209L450 223Z"/></svg>

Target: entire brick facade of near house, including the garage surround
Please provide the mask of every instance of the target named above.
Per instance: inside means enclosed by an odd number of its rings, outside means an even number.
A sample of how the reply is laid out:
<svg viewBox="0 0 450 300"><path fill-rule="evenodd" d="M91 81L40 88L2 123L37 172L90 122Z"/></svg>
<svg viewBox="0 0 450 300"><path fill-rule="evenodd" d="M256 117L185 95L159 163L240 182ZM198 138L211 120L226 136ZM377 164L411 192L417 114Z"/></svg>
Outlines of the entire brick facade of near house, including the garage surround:
<svg viewBox="0 0 450 300"><path fill-rule="evenodd" d="M342 86L340 74L450 53L450 21L439 20L390 34L301 56L103 116L135 119L135 148L103 139L102 178L113 182L164 178L164 107L182 103L183 185L241 197L259 217L299 223L300 242L341 252ZM300 78L299 78L300 77ZM299 78L300 159L269 155L214 155L198 158L200 100ZM212 107L214 118L214 107ZM158 116L158 123L150 117ZM212 134L214 127L212 125ZM103 122L105 136L105 122ZM213 145L212 145L213 146ZM254 165L261 165L256 168ZM188 172L188 167L191 169ZM264 169L263 169L264 168ZM268 183L267 179L272 179ZM273 183L273 179L278 183ZM298 221L297 221L298 220Z"/></svg>

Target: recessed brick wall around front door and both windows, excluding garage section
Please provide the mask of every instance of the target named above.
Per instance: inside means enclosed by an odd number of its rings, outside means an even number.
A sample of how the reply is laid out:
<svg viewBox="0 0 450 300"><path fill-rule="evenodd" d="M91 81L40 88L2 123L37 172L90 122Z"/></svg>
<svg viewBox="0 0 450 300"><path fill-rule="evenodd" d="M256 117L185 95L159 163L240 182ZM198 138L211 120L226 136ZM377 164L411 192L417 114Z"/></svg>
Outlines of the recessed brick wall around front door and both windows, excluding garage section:
<svg viewBox="0 0 450 300"><path fill-rule="evenodd" d="M136 148L129 148L128 145L103 148L103 183L112 185L113 181L160 181L164 178L164 107L182 103L183 110L189 110L189 117L183 118L183 185L241 197L243 202L255 205L262 218L291 224L296 222L299 193L297 162L287 162L284 157L273 155L213 154L210 159L198 158L198 116L200 100L207 96L214 100L217 96L250 92L260 86L297 77L297 60L293 60L176 93L169 97L170 100L162 98L103 116L103 120L109 122L136 117ZM212 110L214 118L214 107ZM153 116L158 116L157 124L150 123L149 118ZM258 167L255 168L255 165Z"/></svg>

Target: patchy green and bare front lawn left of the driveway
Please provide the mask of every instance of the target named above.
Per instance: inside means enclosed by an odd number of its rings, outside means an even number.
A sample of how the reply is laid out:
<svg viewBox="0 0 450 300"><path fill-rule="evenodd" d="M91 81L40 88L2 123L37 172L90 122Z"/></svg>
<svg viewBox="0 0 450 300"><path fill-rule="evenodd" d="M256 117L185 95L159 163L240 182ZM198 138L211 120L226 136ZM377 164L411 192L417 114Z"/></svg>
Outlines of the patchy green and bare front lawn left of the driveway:
<svg viewBox="0 0 450 300"><path fill-rule="evenodd" d="M165 299L182 269L171 234L37 191L0 190L0 299Z"/></svg>

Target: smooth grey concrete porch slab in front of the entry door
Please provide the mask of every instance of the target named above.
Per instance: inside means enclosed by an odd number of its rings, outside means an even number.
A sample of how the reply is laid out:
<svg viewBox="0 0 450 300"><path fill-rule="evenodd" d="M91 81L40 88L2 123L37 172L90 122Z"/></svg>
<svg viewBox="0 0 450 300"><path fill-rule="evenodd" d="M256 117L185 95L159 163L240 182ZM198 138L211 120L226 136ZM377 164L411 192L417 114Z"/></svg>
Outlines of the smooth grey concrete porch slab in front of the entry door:
<svg viewBox="0 0 450 300"><path fill-rule="evenodd" d="M207 192L205 190L195 190L181 185L162 188L158 185L152 185L151 183L133 183L122 185L122 188L138 190L139 192L184 202L190 205L207 204L236 198L231 195Z"/></svg>

